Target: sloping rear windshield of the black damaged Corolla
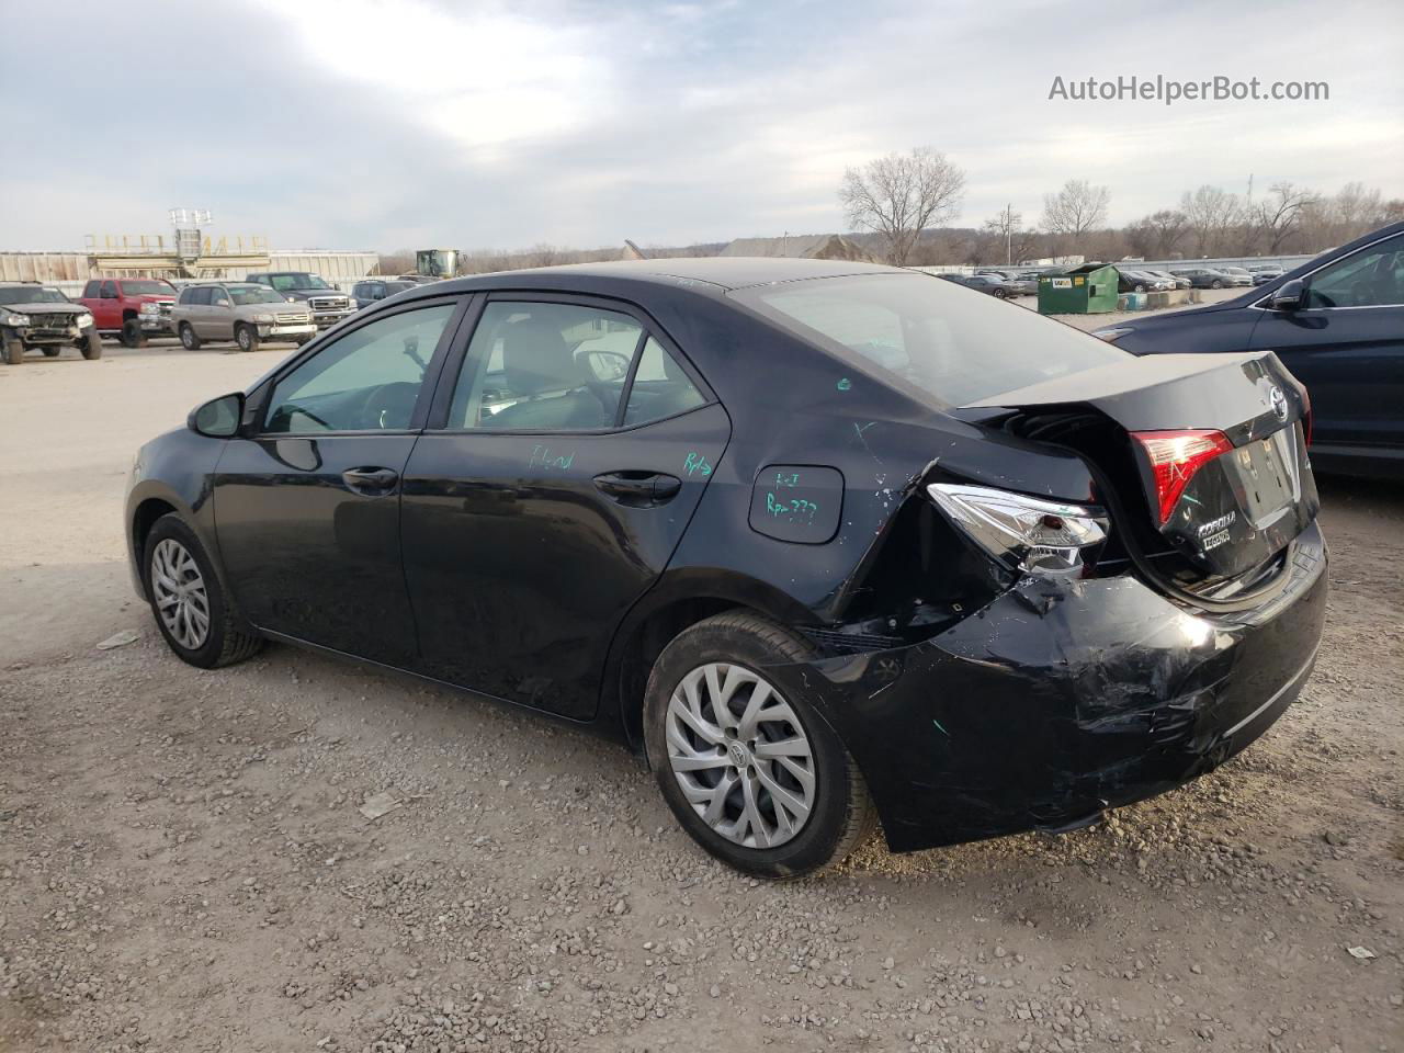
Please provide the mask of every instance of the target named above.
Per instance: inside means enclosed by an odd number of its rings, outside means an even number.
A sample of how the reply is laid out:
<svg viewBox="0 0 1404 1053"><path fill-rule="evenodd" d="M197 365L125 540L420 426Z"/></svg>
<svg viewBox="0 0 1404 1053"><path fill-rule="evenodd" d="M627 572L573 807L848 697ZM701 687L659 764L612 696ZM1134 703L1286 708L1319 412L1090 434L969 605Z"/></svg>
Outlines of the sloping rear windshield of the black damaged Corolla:
<svg viewBox="0 0 1404 1053"><path fill-rule="evenodd" d="M1127 354L1028 307L925 274L810 278L731 293L797 336L878 366L942 406L1123 361Z"/></svg>

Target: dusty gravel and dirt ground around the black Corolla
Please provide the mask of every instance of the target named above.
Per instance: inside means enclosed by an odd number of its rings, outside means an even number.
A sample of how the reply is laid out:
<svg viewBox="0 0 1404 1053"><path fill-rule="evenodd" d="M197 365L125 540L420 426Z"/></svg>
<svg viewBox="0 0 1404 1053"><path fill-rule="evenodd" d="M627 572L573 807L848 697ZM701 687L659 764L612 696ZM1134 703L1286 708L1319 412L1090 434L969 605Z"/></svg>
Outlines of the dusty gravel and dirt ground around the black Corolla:
<svg viewBox="0 0 1404 1053"><path fill-rule="evenodd" d="M765 886L571 729L289 647L167 653L132 452L284 354L0 368L4 1053L1404 1047L1404 487L1323 482L1317 673L1219 772Z"/></svg>

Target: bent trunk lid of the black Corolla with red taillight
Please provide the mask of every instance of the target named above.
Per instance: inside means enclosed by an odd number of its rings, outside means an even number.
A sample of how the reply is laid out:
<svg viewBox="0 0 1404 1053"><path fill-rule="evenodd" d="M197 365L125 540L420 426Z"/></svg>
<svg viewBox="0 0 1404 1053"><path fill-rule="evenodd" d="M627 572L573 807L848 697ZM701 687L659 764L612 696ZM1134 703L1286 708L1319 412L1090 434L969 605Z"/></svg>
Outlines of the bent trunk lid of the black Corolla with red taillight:
<svg viewBox="0 0 1404 1053"><path fill-rule="evenodd" d="M1120 442L1101 434L1070 445L1106 473L1130 515L1144 517L1137 526L1205 577L1236 578L1262 569L1317 515L1309 407L1278 357L1252 351L1127 358L981 399L958 416L1094 410L1118 425ZM1060 441L1056 431L1049 441ZM1198 463L1175 462L1177 449L1200 451ZM1158 477L1155 456L1170 458Z"/></svg>

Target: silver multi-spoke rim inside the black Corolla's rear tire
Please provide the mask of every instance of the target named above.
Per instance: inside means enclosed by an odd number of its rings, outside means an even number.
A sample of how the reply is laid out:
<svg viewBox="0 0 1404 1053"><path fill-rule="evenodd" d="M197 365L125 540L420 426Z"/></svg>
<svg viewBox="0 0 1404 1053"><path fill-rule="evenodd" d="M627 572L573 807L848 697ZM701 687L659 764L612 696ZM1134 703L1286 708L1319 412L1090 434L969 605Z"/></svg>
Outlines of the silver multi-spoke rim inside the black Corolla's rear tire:
<svg viewBox="0 0 1404 1053"><path fill-rule="evenodd" d="M795 838L814 807L814 754L779 691L744 665L708 663L668 699L668 764L692 810L746 848Z"/></svg>

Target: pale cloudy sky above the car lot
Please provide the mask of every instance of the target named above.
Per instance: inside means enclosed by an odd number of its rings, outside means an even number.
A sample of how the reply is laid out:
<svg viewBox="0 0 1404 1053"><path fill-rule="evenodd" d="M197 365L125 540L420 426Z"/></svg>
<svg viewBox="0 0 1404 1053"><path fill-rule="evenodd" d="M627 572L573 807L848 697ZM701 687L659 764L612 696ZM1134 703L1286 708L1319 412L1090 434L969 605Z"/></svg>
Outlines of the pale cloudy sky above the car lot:
<svg viewBox="0 0 1404 1053"><path fill-rule="evenodd" d="M0 247L174 205L281 249L816 233L847 166L917 145L966 170L963 225L1068 178L1113 223L1250 174L1404 197L1404 6L1125 7L0 0ZM1049 101L1122 74L1330 101Z"/></svg>

